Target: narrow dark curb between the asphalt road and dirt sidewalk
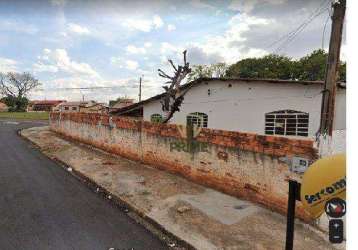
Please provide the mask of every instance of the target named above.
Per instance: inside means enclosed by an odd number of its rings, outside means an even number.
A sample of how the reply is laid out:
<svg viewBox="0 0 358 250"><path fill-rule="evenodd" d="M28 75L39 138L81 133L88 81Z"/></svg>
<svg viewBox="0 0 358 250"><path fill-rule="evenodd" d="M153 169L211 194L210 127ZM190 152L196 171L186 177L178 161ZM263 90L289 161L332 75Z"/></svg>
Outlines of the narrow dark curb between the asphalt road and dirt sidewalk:
<svg viewBox="0 0 358 250"><path fill-rule="evenodd" d="M101 195L103 198L105 198L107 201L109 201L110 203L112 203L116 207L118 207L121 210L124 210L125 212L127 212L128 216L130 216L131 218L136 217L136 218L133 218L133 219L136 220L138 223L140 223L142 226L144 226L147 230L151 231L153 234L159 236L158 232L157 232L157 231L159 231L161 234L166 236L164 239L163 239L163 237L159 237L160 240L165 241L168 245L170 245L174 241L176 243L175 246L180 247L178 249L183 249L183 248L184 249L189 249L189 250L196 249L190 243L186 242L184 239L178 237L177 235L174 235L172 232L170 232L167 229L165 229L161 224L159 224L157 221L155 221L151 217L147 216L144 211L142 211L141 209L139 209L135 205L133 205L130 202L128 202L127 200L125 200L125 199L123 199L123 198L111 193L106 188L98 185L94 180L92 180L91 178L85 176L81 172L73 169L72 166L68 165L66 162L62 161L61 159L58 159L57 157L52 157L49 154L47 154L46 152L43 152L41 150L40 145L36 144L34 141L30 140L28 137L22 135L21 132L22 132L22 129L17 131L17 134L20 137L22 137L26 141L30 142L44 156L46 156L48 159L58 163L58 165L63 170L65 170L67 173L69 173L72 176L74 176L75 178L77 178L82 183L86 184L87 187L90 188L92 191L94 191L95 193L98 193L99 195ZM79 144L81 146L83 146L82 143L79 143ZM86 145L84 145L84 146L87 147ZM92 149L91 147L88 147L88 148ZM69 171L68 168L71 168L71 171ZM100 188L100 189L97 190L97 188ZM111 198L109 198L109 197L111 197ZM131 212L131 211L134 214L130 214L129 212ZM138 216L140 218L138 218ZM149 223L149 225L147 223ZM153 229L154 229L154 231L153 231Z"/></svg>

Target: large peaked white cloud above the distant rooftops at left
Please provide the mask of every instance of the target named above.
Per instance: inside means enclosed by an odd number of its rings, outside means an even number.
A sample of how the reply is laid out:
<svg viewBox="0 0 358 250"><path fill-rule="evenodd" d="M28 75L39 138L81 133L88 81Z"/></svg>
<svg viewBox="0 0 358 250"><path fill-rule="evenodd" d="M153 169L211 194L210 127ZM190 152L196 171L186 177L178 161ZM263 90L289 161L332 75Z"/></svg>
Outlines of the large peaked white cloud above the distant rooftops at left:
<svg viewBox="0 0 358 250"><path fill-rule="evenodd" d="M39 61L33 65L35 72L63 72L72 75L99 77L87 63L73 61L65 49L44 49Z"/></svg>

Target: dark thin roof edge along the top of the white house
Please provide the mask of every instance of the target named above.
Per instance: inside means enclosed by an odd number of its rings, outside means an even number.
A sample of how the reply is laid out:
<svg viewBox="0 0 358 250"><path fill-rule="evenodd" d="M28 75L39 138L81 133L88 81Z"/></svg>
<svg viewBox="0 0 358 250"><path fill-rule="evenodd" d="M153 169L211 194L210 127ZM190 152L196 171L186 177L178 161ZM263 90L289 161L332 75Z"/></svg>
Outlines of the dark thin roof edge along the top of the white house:
<svg viewBox="0 0 358 250"><path fill-rule="evenodd" d="M202 82L210 82L210 81L221 81L221 82L227 82L227 81L236 81L236 82L265 82L268 84L277 84L277 83L287 83L287 84L301 84L301 85L313 85L313 84L319 84L319 85L323 85L324 81L296 81L296 80L281 80L281 79L252 79L252 78L218 78L218 77L214 77L214 78L207 78L207 77L202 77L202 78L198 78L194 81L191 81L189 83L185 83L183 85L180 86L181 90L187 89L187 88L191 88L193 86L199 85ZM337 85L340 88L345 88L345 83L342 82L337 82ZM165 92L161 93L159 95L155 95L153 97L150 97L146 100L143 100L141 102L137 102L134 103L133 105L129 105L123 108L119 108L116 109L114 111L111 111L110 113L112 114L117 114L117 113L126 113L129 112L131 110L135 110L139 107L142 107L144 104L149 103L151 101L155 101L155 100L160 100L162 97L165 96Z"/></svg>

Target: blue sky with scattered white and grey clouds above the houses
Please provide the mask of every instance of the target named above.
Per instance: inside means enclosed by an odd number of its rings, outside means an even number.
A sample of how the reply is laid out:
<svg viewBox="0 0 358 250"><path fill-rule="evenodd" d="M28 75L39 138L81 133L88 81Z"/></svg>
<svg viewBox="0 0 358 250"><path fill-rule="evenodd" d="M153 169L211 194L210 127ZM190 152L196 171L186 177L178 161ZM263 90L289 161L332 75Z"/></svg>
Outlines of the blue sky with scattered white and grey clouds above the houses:
<svg viewBox="0 0 358 250"><path fill-rule="evenodd" d="M142 76L145 99L162 92L158 68L171 74L168 59L182 64L184 50L191 65L327 50L330 2L0 0L0 72L39 79L32 100L100 102L137 100ZM344 34L343 60L345 50ZM111 88L63 89L96 86Z"/></svg>

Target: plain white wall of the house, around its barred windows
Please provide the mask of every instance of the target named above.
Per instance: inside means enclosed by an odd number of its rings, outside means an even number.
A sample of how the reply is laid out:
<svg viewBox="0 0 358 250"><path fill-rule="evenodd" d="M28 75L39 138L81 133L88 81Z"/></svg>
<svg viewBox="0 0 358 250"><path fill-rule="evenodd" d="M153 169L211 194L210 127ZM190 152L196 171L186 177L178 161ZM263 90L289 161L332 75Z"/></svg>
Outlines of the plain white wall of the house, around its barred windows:
<svg viewBox="0 0 358 250"><path fill-rule="evenodd" d="M185 125L187 114L203 112L208 115L209 128L264 134L265 113L292 109L309 113L309 136L314 136L320 123L321 90L320 84L210 81L185 95L171 123ZM340 90L337 103L345 110L343 99L345 90ZM154 113L164 115L159 100L144 105L144 120L149 121ZM337 128L345 128L343 114L345 117L345 112L336 115Z"/></svg>

